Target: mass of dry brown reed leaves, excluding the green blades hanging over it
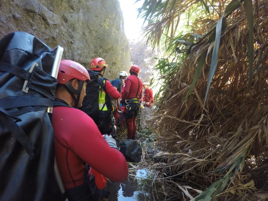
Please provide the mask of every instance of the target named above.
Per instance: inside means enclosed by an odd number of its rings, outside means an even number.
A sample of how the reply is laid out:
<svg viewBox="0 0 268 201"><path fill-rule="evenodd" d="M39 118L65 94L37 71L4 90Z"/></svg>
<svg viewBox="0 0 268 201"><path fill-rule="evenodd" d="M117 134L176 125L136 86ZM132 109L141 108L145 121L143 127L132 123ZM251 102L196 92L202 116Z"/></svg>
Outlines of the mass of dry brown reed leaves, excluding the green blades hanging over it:
<svg viewBox="0 0 268 201"><path fill-rule="evenodd" d="M156 166L170 171L166 176L162 171L158 177L165 176L159 182L162 193L169 197L190 200L206 190L195 200L268 199L267 5L267 0L253 3L252 73L248 60L250 28L244 7L226 19L205 105L214 46L213 40L209 41L212 31L196 42L182 64L173 65L165 74L167 88L155 117L161 133L158 144L163 150L158 156L163 163ZM199 23L204 26L195 31L204 35L208 26L204 19ZM203 53L205 63L185 101ZM153 161L143 162L156 167Z"/></svg>

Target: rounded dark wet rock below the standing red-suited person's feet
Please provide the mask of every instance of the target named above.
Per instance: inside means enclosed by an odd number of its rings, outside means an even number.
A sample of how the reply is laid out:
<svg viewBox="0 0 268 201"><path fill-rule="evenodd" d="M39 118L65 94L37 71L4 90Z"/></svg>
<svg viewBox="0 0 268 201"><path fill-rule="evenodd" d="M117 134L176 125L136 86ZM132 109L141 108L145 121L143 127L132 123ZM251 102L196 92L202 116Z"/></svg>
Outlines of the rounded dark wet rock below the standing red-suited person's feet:
<svg viewBox="0 0 268 201"><path fill-rule="evenodd" d="M127 139L121 143L119 151L125 156L129 162L138 163L141 159L142 148L140 142Z"/></svg>

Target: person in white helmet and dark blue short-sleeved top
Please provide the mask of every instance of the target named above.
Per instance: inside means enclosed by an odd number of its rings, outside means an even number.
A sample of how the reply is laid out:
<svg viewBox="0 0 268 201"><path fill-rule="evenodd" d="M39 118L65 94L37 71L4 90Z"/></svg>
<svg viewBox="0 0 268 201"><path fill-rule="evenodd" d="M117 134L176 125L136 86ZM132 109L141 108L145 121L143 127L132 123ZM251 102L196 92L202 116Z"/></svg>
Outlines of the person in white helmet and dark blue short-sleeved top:
<svg viewBox="0 0 268 201"><path fill-rule="evenodd" d="M128 73L126 71L120 71L119 78L111 81L111 84L113 85L113 87L120 93L120 98L122 95L122 87L124 86L125 80L127 77L128 77ZM112 101L113 106L116 107L115 112L113 113L114 118L115 118L115 125L117 125L118 119L119 119L118 111L121 111L120 98L118 98L115 101Z"/></svg>

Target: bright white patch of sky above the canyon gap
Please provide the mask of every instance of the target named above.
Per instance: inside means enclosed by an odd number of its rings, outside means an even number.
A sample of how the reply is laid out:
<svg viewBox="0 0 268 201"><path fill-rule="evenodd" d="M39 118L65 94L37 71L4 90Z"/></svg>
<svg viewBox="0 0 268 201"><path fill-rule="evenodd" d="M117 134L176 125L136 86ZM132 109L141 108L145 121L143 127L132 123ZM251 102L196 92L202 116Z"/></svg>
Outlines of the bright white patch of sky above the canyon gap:
<svg viewBox="0 0 268 201"><path fill-rule="evenodd" d="M138 18L137 8L141 7L143 1L136 0L118 0L124 16L125 34L128 39L137 39L141 35L143 19ZM135 3L135 4L134 4Z"/></svg>

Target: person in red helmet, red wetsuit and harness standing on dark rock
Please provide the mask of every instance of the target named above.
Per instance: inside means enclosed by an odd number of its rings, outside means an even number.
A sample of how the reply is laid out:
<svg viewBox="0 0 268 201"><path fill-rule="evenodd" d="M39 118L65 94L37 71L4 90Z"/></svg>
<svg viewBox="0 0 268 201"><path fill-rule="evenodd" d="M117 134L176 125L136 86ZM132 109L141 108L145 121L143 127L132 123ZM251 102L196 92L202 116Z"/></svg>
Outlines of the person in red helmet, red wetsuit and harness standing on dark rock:
<svg viewBox="0 0 268 201"><path fill-rule="evenodd" d="M140 99L142 98L142 81L138 78L140 67L132 65L126 79L122 103L125 104L124 117L128 127L128 139L135 140L136 136L136 117L140 110Z"/></svg>

